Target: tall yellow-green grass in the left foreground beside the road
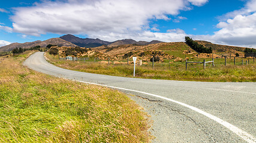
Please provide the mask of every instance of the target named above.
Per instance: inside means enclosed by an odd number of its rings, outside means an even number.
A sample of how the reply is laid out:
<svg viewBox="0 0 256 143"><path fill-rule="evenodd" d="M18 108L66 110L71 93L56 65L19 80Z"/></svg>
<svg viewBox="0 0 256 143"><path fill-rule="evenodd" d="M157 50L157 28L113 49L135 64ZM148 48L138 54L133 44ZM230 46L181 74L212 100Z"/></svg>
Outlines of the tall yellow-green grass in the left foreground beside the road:
<svg viewBox="0 0 256 143"><path fill-rule="evenodd" d="M121 92L0 57L0 142L149 142L146 114Z"/></svg>

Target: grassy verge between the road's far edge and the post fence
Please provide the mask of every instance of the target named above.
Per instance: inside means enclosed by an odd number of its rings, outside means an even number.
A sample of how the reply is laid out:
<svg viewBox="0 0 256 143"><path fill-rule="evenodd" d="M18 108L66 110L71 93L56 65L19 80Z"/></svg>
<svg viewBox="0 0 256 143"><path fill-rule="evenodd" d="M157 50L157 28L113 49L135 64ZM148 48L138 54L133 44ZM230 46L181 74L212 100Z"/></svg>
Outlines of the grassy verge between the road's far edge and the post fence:
<svg viewBox="0 0 256 143"><path fill-rule="evenodd" d="M103 64L94 61L64 61L46 53L47 58L52 64L64 69L84 71L89 73L108 74L112 76L132 77L133 65L127 64ZM212 60L211 58L206 61ZM191 61L203 61L201 58L194 58ZM136 77L146 79L167 79L167 80L190 80L202 82L256 82L256 64L248 66L241 65L242 59L237 59L234 66L233 60L228 59L228 65L224 66L224 59L215 60L215 68L207 64L203 70L202 64L188 64L185 70L185 62L175 62L171 60L165 63L155 63L155 67L149 64L136 67Z"/></svg>

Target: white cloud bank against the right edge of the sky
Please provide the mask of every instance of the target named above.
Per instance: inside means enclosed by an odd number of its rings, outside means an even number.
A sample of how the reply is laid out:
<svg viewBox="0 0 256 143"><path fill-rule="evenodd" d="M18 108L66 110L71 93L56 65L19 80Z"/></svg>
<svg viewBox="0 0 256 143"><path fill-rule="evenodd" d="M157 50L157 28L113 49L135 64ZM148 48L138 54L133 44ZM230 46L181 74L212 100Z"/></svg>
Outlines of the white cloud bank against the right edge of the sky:
<svg viewBox="0 0 256 143"><path fill-rule="evenodd" d="M212 40L228 45L256 47L256 0L249 1L245 8L225 15L216 27Z"/></svg>

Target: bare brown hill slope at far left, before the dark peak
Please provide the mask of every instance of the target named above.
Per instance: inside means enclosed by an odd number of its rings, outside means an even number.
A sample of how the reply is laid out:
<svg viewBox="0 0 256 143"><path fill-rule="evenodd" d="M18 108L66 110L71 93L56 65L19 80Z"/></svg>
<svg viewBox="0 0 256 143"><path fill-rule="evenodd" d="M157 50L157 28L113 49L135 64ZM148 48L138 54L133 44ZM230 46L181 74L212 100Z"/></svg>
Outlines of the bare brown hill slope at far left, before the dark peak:
<svg viewBox="0 0 256 143"><path fill-rule="evenodd" d="M11 43L10 45L7 46L2 46L0 47L0 51L11 51L15 48L31 48L34 46L41 46L41 47L46 47L48 44L52 45L58 45L58 46L77 46L74 43L65 41L61 38L52 38L48 39L46 41L35 41L35 42L26 42L26 43Z"/></svg>

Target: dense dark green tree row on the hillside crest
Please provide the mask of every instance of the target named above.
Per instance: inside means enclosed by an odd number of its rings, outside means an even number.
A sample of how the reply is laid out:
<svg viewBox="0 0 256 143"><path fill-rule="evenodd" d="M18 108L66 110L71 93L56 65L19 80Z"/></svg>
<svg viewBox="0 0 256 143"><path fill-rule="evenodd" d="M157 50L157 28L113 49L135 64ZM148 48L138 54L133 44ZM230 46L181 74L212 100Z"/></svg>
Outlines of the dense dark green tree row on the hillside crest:
<svg viewBox="0 0 256 143"><path fill-rule="evenodd" d="M192 38L189 38L188 36L185 37L186 44L190 46L192 49L194 49L197 52L203 52L203 53L212 53L212 47L206 48L201 44L198 44L197 42L193 41Z"/></svg>

